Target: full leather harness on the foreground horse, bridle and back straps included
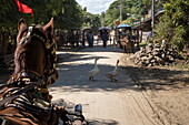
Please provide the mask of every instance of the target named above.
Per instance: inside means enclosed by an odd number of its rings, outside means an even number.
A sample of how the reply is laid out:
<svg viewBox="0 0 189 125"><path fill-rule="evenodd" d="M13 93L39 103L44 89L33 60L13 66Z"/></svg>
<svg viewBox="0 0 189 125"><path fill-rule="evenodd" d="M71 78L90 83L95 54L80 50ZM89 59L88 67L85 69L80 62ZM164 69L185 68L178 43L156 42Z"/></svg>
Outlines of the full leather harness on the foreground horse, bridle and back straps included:
<svg viewBox="0 0 189 125"><path fill-rule="evenodd" d="M44 75L40 75L39 73L30 70L23 70L19 74L13 75L8 84L0 86L0 88L8 88L6 92L0 92L0 94L3 95L3 97L0 98L0 110L16 107L34 114L37 117L42 117L42 115L46 114L42 118L47 119L53 111L53 106L50 101L41 95L38 88L43 86L46 87L46 82L50 80L51 75L56 71L56 43L53 39L52 43L50 43L50 40L46 38L41 31L34 29L34 25L29 27L26 31L28 31L28 33L21 39L19 44L23 44L32 38L39 39L46 46L48 58L52 61L53 66L50 69L49 73ZM33 96L34 101L27 98L33 98Z"/></svg>

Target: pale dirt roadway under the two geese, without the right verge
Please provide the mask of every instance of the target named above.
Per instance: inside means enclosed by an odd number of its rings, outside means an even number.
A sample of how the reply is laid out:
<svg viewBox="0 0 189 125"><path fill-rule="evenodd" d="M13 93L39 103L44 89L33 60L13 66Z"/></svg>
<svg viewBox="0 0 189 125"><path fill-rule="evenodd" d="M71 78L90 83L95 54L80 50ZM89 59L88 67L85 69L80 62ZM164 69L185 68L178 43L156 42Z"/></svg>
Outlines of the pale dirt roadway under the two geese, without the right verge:
<svg viewBox="0 0 189 125"><path fill-rule="evenodd" d="M82 104L83 115L91 125L165 125L155 105L133 82L130 73L119 64L118 82L110 82L106 73L113 70L122 50L112 46L86 48L79 52L59 51L59 80L50 87L53 102ZM89 82L88 72L100 58L99 74ZM69 106L68 106L69 107Z"/></svg>

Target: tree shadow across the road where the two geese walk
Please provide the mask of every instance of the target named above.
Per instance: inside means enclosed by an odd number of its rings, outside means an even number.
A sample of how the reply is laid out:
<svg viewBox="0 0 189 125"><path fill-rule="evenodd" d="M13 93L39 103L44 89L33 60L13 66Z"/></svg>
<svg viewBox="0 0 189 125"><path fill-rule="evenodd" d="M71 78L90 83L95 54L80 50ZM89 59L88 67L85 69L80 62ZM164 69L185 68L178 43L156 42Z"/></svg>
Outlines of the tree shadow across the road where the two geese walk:
<svg viewBox="0 0 189 125"><path fill-rule="evenodd" d="M106 74L115 69L111 65L98 65L100 72L94 76L94 81L89 81L88 72L93 69L93 64L62 64L59 65L59 80L51 85L51 92L57 87L63 87L69 92L99 92L99 91L123 91L126 88L136 90L136 83L130 80L127 71L119 66L117 82L111 82Z"/></svg>

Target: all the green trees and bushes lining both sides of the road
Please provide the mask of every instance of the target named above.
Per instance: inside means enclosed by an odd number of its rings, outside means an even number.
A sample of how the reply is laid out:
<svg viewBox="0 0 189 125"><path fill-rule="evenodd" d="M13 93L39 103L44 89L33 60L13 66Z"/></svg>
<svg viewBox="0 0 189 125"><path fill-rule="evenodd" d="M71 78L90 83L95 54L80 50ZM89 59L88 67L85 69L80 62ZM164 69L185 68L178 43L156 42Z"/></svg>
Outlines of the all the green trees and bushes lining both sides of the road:
<svg viewBox="0 0 189 125"><path fill-rule="evenodd" d="M34 14L26 14L18 11L14 0L0 0L0 44L6 52L6 42L14 44L17 22L20 18L28 23L47 23L51 17L54 18L54 28L71 29L91 27L112 27L120 20L120 0L116 0L106 12L93 14L88 8L81 7L76 0L30 0L20 2L33 9ZM133 25L135 21L142 21L147 10L151 8L151 0L121 0L122 23ZM165 14L156 23L155 41L173 45L179 51L188 49L189 45L189 1L188 0L158 0L156 8L163 7Z"/></svg>

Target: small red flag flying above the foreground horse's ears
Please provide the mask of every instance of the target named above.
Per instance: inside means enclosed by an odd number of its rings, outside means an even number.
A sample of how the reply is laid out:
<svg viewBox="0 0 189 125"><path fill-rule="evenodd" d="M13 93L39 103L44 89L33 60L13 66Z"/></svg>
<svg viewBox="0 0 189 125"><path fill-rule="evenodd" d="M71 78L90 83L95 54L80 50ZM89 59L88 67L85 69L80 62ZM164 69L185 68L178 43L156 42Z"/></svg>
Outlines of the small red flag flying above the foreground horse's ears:
<svg viewBox="0 0 189 125"><path fill-rule="evenodd" d="M19 0L16 0L16 3L18 6L19 11L21 11L23 13L31 13L31 17L33 17L33 10L31 8L21 3Z"/></svg>

